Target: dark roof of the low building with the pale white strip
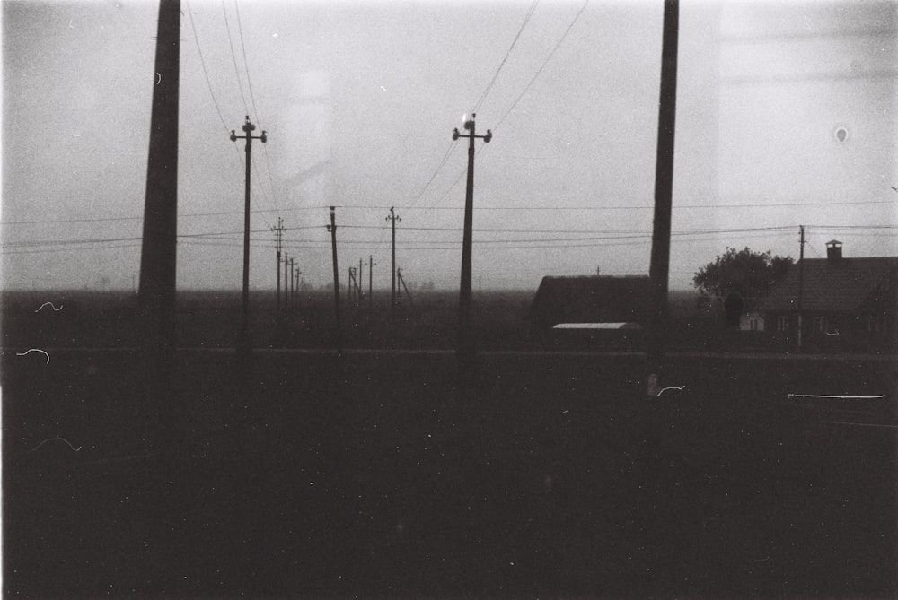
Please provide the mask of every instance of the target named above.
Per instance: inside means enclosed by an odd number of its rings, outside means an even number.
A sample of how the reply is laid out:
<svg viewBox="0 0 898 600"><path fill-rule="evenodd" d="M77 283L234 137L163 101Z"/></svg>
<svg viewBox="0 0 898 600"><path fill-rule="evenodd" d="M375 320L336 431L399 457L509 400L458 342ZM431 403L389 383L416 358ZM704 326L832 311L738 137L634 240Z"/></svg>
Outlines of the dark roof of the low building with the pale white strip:
<svg viewBox="0 0 898 600"><path fill-rule="evenodd" d="M645 324L650 292L646 276L543 277L530 305L534 324Z"/></svg>

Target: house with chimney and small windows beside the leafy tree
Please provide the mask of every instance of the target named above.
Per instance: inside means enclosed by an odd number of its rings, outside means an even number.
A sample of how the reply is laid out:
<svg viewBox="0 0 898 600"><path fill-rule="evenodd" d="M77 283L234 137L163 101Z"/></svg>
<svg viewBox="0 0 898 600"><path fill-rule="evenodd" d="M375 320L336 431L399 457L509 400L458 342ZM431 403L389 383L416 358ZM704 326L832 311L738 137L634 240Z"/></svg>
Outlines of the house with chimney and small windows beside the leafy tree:
<svg viewBox="0 0 898 600"><path fill-rule="evenodd" d="M842 243L826 244L826 258L803 259L756 308L766 329L806 350L881 352L896 347L898 257L847 258Z"/></svg>

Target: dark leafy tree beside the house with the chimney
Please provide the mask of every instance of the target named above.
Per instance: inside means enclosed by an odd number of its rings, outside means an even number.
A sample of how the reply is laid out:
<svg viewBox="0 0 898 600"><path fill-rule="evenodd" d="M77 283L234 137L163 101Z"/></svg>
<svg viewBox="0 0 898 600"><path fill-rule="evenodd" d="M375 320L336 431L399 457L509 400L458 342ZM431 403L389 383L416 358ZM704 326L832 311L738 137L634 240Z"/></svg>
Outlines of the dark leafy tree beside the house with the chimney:
<svg viewBox="0 0 898 600"><path fill-rule="evenodd" d="M739 294L744 299L760 300L774 283L794 265L792 257L775 257L749 248L726 248L714 262L704 265L692 278L692 285L702 293L725 298Z"/></svg>

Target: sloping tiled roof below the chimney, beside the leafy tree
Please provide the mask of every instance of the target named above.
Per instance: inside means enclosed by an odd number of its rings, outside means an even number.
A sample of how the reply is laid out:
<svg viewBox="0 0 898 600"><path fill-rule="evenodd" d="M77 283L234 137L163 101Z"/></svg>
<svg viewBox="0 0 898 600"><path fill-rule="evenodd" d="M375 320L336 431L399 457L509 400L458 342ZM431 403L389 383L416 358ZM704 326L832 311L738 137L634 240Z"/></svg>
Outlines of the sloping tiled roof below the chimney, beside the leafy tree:
<svg viewBox="0 0 898 600"><path fill-rule="evenodd" d="M872 300L886 280L894 283L898 277L898 257L806 258L789 268L757 310L797 310L799 265L804 265L802 303L809 311L855 311Z"/></svg>

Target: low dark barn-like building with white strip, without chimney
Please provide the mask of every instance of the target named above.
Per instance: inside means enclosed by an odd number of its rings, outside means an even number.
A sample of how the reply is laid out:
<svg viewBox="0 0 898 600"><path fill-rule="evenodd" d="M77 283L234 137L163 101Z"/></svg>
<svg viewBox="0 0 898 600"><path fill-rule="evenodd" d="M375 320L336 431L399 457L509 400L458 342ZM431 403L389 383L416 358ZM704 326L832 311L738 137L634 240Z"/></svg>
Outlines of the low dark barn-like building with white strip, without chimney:
<svg viewBox="0 0 898 600"><path fill-rule="evenodd" d="M647 276L543 277L528 314L531 337L632 337L646 325L650 290Z"/></svg>

